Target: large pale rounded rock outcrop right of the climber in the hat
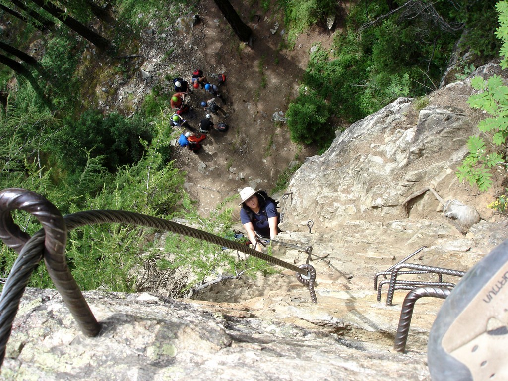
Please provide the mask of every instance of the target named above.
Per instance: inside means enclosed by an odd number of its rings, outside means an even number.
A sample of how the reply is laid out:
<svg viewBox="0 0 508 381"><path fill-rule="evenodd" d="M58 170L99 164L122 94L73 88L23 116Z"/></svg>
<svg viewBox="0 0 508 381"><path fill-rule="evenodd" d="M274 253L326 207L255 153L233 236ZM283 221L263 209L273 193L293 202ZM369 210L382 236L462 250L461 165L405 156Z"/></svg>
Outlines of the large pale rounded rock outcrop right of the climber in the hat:
<svg viewBox="0 0 508 381"><path fill-rule="evenodd" d="M503 74L498 69L491 64L478 72ZM400 98L353 123L327 152L309 158L296 173L288 188L292 197L283 205L288 221L283 228L293 231L311 219L314 229L331 231L351 219L406 218L404 200L426 186L443 199L475 204L488 218L486 200L455 174L468 153L466 141L478 133L475 125L483 117L466 104L472 91L467 81L453 83L431 94L421 110L417 102ZM434 219L436 208L442 210L429 192L406 212L410 218Z"/></svg>

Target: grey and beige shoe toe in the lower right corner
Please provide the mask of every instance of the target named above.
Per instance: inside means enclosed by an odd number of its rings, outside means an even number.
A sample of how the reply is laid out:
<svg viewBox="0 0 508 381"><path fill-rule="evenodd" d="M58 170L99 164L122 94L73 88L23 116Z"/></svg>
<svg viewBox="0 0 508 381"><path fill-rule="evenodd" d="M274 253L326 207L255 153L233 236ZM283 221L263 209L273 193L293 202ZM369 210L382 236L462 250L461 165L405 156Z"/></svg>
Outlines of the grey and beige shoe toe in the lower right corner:
<svg viewBox="0 0 508 381"><path fill-rule="evenodd" d="M433 381L508 380L508 240L474 265L429 334Z"/></svg>

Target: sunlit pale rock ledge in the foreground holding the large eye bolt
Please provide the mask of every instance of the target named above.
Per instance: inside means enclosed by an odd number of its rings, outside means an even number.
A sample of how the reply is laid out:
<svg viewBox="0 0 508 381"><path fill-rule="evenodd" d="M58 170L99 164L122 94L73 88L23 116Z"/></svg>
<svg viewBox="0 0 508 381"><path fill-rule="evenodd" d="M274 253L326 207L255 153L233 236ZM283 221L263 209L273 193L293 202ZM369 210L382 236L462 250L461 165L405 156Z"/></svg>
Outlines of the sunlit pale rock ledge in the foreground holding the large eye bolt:
<svg viewBox="0 0 508 381"><path fill-rule="evenodd" d="M44 380L420 380L425 364L248 312L229 315L149 294L85 294L103 323L98 338L76 331L53 291L28 290L3 379ZM236 315L236 316L235 316ZM360 357L359 357L360 356ZM362 360L363 359L363 360ZM366 364L369 364L366 366ZM404 369L399 369L403 365ZM316 371L319 369L319 371ZM317 374L319 373L319 376Z"/></svg>

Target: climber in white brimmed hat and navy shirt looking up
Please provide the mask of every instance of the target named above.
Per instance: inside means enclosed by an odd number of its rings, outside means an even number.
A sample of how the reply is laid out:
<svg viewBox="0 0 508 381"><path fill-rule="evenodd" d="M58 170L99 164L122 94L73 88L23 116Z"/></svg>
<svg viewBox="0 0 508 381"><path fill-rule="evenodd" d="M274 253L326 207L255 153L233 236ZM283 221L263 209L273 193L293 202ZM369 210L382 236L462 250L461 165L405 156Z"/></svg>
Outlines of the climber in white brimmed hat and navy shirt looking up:
<svg viewBox="0 0 508 381"><path fill-rule="evenodd" d="M263 190L255 190L246 186L240 190L242 202L240 220L247 233L247 237L254 247L261 251L257 245L256 234L263 238L274 238L280 229L280 213L277 204Z"/></svg>

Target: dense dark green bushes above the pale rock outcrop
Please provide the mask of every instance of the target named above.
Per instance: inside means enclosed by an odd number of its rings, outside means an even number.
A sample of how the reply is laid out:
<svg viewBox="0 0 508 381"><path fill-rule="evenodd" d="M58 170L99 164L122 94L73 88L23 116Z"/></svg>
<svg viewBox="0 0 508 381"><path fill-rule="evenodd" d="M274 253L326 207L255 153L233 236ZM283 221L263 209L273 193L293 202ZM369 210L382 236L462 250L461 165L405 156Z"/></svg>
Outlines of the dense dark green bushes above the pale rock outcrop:
<svg viewBox="0 0 508 381"><path fill-rule="evenodd" d="M402 16L401 12L390 14L385 1L360 2L348 14L343 31L336 32L333 50L319 45L311 49L302 87L308 94L318 94L319 101L315 102L329 105L329 116L350 122L398 97L425 96L439 83L462 27L467 30L461 39L463 49L490 54L496 46L489 32L495 27L488 17L493 4L492 0L474 4L438 1L431 5L437 13L430 15L409 3ZM284 3L284 7L290 42L294 31L299 33L318 22L312 17L319 8L315 2L295 0ZM469 64L464 70L472 68ZM294 116L315 117L308 103L300 93L288 110L293 116L290 129L297 131L293 136L302 142L309 140L300 134L314 122L318 130L326 129L319 118L295 125L298 121ZM330 120L327 123L333 124Z"/></svg>

